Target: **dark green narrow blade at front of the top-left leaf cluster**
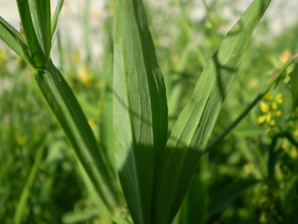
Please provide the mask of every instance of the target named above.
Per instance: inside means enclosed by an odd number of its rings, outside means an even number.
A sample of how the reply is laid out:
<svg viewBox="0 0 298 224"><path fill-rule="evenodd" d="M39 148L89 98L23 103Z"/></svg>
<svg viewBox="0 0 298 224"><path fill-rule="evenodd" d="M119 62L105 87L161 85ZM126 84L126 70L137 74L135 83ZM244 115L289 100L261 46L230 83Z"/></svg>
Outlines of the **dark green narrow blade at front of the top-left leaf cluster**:
<svg viewBox="0 0 298 224"><path fill-rule="evenodd" d="M21 25L25 39L30 51L30 56L37 67L45 67L45 56L38 43L37 36L32 23L28 0L17 0L18 11L20 14Z"/></svg>

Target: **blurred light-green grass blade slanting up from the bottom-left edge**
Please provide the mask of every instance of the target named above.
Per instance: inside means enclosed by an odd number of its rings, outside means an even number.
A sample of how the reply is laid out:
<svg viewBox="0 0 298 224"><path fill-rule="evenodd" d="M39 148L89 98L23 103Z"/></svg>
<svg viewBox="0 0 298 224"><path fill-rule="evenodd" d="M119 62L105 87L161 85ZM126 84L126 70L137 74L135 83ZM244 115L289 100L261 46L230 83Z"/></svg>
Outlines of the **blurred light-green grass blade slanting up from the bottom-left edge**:
<svg viewBox="0 0 298 224"><path fill-rule="evenodd" d="M44 140L44 142L37 149L37 155L36 155L34 164L33 164L32 168L30 170L28 179L27 179L26 184L25 184L25 186L22 190L21 197L20 197L20 199L17 203L16 209L15 209L15 213L14 213L14 216L13 216L13 223L14 224L21 224L22 221L23 221L25 209L26 209L26 206L27 206L27 201L30 198L31 188L33 186L33 183L34 183L34 180L36 178L39 166L41 164L44 149L46 148L45 143L46 143L46 141Z"/></svg>

